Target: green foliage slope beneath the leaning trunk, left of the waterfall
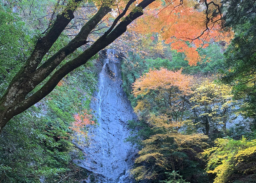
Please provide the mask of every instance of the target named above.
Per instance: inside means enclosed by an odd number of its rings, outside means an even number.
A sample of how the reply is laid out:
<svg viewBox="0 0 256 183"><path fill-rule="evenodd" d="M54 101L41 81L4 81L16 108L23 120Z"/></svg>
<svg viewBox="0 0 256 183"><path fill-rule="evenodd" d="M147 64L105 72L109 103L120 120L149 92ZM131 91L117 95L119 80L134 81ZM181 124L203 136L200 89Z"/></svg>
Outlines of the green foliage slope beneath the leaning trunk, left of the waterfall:
<svg viewBox="0 0 256 183"><path fill-rule="evenodd" d="M63 179L73 183L86 177L86 171L72 162L82 153L72 143L75 139L70 126L74 114L89 110L96 83L94 73L82 67L63 78L36 107L6 125L0 139L1 182L52 183Z"/></svg>

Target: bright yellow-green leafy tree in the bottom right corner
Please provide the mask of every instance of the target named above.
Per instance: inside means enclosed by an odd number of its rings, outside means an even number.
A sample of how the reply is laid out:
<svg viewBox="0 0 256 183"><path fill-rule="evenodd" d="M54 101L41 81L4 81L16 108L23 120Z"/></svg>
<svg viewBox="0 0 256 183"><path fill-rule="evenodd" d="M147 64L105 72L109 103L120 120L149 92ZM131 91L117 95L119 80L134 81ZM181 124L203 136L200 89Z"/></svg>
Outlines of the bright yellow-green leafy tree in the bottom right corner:
<svg viewBox="0 0 256 183"><path fill-rule="evenodd" d="M216 139L215 147L205 150L207 172L216 175L214 183L252 183L256 174L256 141Z"/></svg>

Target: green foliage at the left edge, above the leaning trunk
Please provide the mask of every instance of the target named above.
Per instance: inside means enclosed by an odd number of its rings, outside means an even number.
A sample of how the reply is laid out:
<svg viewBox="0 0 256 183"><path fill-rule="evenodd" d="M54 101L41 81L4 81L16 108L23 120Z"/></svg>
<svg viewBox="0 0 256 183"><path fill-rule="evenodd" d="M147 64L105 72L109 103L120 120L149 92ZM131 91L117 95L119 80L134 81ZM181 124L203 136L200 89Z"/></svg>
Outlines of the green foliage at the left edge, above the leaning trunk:
<svg viewBox="0 0 256 183"><path fill-rule="evenodd" d="M0 96L29 56L35 42L31 34L17 14L0 4Z"/></svg>

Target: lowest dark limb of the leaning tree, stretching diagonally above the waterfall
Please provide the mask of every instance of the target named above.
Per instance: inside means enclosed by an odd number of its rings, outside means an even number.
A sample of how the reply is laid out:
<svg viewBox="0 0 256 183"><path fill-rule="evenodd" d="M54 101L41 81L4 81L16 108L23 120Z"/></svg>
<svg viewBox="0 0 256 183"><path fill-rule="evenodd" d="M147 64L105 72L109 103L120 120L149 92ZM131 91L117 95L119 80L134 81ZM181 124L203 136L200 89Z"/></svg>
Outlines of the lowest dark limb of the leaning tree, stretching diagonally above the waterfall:
<svg viewBox="0 0 256 183"><path fill-rule="evenodd" d="M37 103L39 100L43 99L48 93L50 93L58 84L58 82L69 72L76 69L77 67L87 63L87 61L97 54L100 50L108 46L115 39L121 36L127 29L127 26L136 18L143 15L143 11L138 10L140 8L146 8L150 3L155 0L143 0L139 5L136 6L134 11L131 11L128 16L125 17L107 36L101 36L96 42L94 42L87 50L85 50L81 55L70 60L60 69L58 69L46 82L46 84L33 95L25 99L16 106L15 115L23 112L25 109ZM25 109L24 109L25 108Z"/></svg>

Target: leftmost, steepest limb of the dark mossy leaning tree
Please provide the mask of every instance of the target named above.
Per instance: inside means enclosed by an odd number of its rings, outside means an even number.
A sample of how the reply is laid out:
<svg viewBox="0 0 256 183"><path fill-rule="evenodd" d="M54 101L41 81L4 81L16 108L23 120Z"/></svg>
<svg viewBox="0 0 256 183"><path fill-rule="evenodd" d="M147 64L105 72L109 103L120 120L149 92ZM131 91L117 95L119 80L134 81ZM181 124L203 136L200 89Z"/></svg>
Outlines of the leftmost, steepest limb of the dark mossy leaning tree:
<svg viewBox="0 0 256 183"><path fill-rule="evenodd" d="M28 85L28 78L31 77L31 73L36 70L41 63L42 58L49 51L53 43L58 39L62 31L69 24L71 19L74 18L73 12L78 3L82 0L74 0L75 5L70 4L59 14L52 27L48 30L46 35L38 39L30 58L26 61L23 68L13 77L7 91L0 99L0 106L15 106L18 102L22 101L26 95L26 84ZM71 8L72 7L72 8ZM30 84L31 87L32 83ZM0 108L1 111L1 108ZM1 114L1 113L0 113ZM1 118L1 115L0 115ZM0 128L1 129L1 128Z"/></svg>

